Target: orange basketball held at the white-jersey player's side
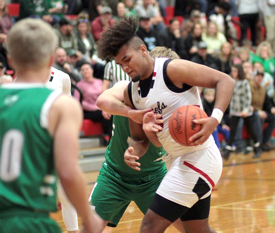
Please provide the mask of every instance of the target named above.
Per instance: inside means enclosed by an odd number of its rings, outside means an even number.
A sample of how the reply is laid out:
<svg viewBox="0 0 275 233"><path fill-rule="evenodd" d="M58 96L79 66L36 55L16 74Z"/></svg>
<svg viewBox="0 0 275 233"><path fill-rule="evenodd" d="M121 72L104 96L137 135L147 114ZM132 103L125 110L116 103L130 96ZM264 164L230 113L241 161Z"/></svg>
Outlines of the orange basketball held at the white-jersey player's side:
<svg viewBox="0 0 275 233"><path fill-rule="evenodd" d="M177 108L169 119L169 132L172 138L182 146L190 146L188 139L201 130L201 124L192 120L207 118L205 111L194 105Z"/></svg>

